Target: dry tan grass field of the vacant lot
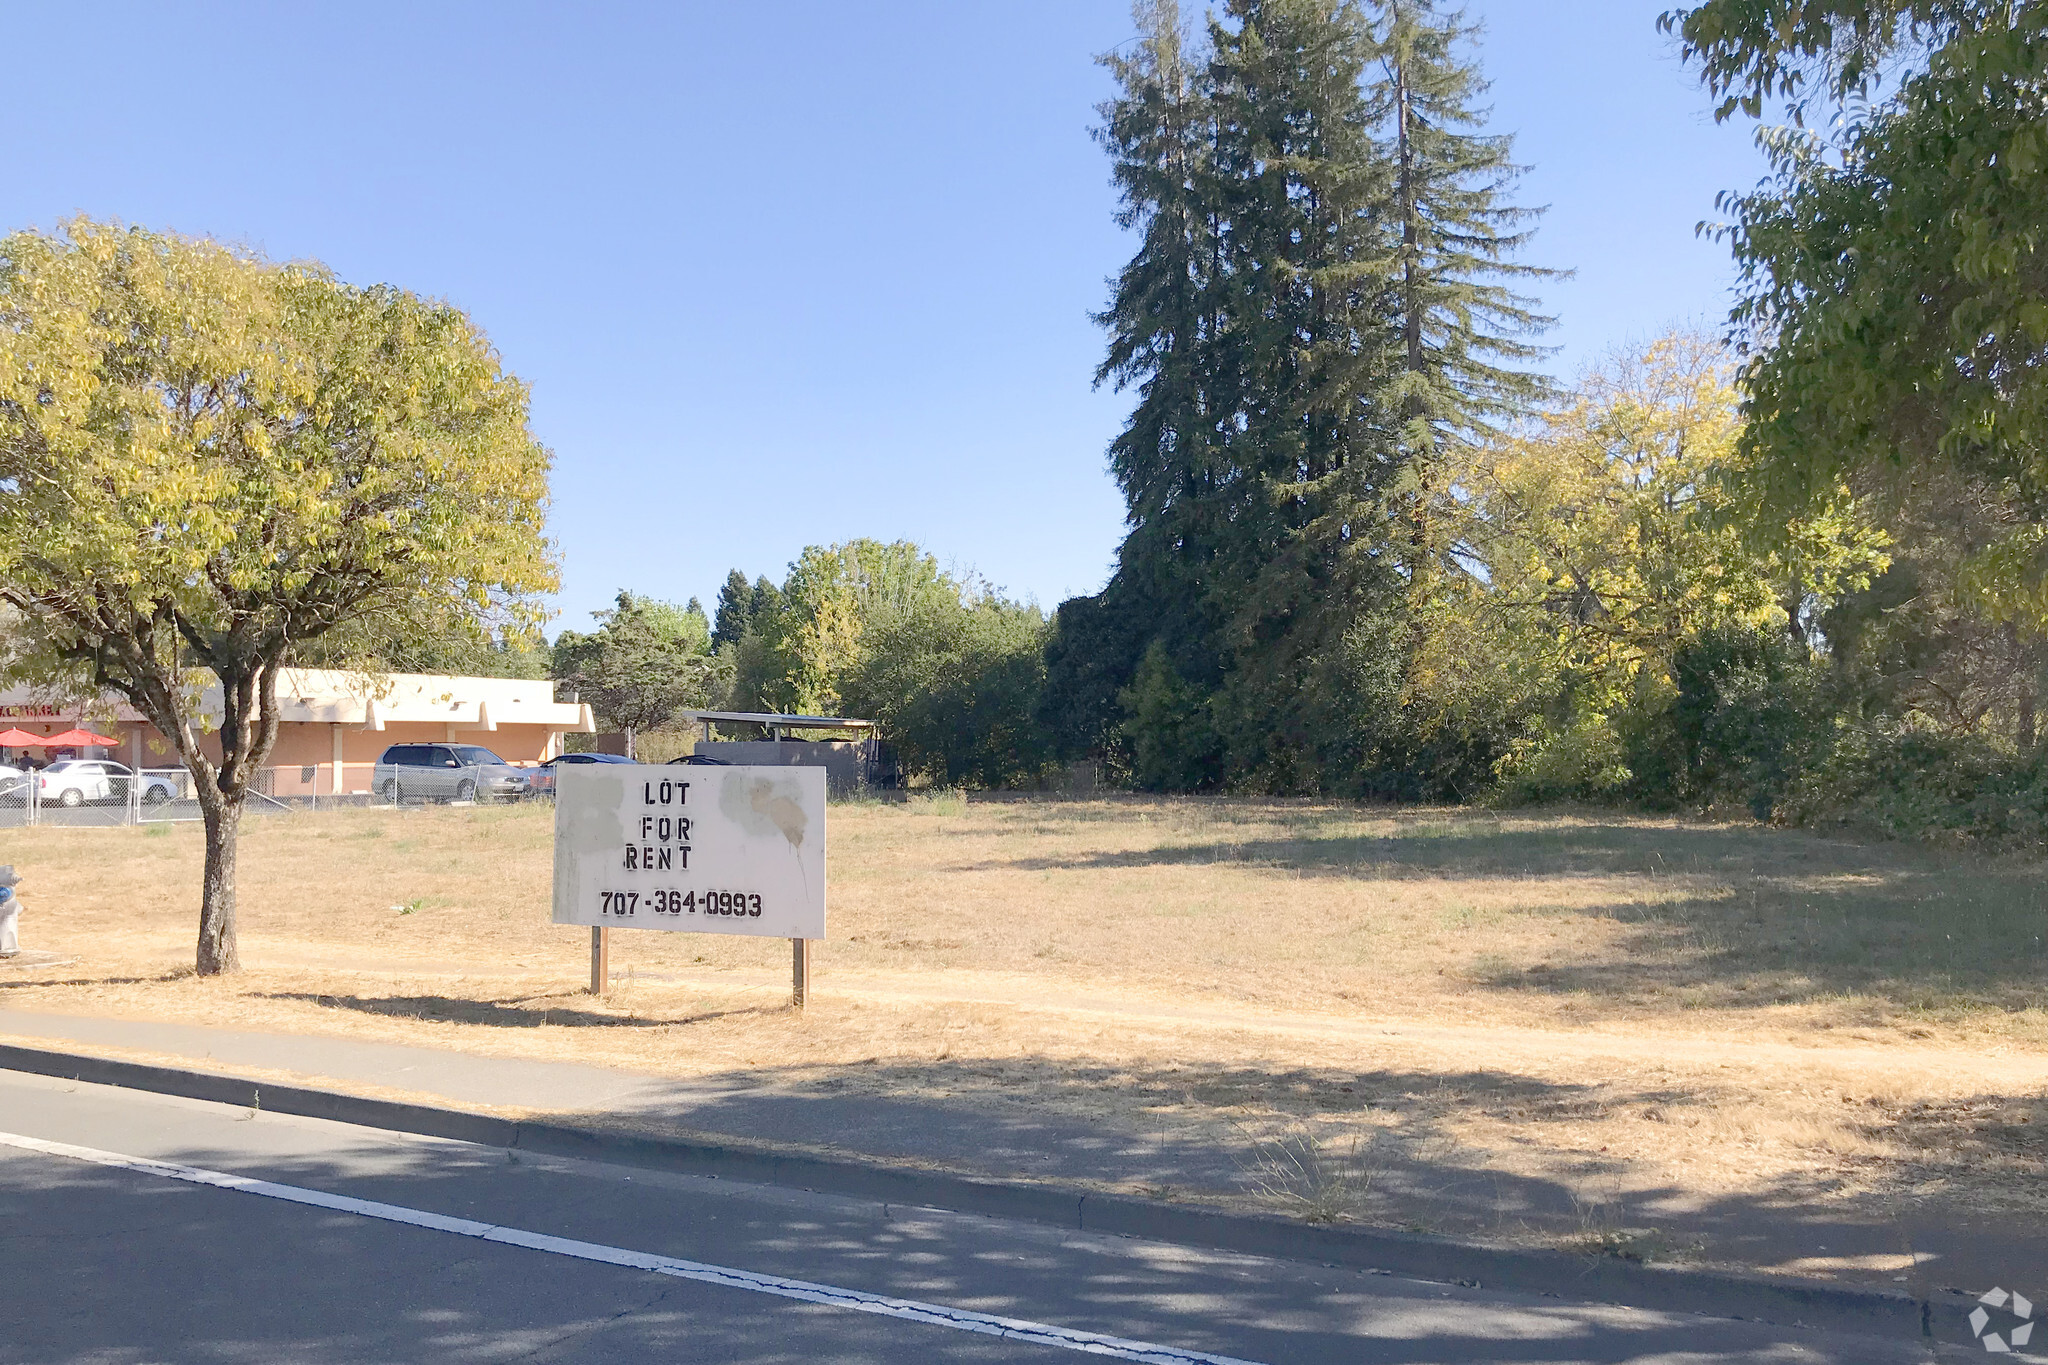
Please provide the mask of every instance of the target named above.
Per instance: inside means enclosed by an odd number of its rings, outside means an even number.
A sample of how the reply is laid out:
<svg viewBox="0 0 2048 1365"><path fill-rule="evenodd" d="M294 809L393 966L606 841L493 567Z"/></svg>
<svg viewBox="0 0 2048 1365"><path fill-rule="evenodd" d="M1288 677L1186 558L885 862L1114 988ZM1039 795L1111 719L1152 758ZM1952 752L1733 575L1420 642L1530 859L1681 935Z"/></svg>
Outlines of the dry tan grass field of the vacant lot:
<svg viewBox="0 0 2048 1365"><path fill-rule="evenodd" d="M1610 812L856 802L799 1017L780 941L618 933L580 993L549 819L252 819L248 970L211 982L197 829L6 831L25 937L74 962L0 974L0 1009L1028 1105L1231 1152L1233 1197L1309 1218L1710 1261L1788 1209L2048 1212L2034 864Z"/></svg>

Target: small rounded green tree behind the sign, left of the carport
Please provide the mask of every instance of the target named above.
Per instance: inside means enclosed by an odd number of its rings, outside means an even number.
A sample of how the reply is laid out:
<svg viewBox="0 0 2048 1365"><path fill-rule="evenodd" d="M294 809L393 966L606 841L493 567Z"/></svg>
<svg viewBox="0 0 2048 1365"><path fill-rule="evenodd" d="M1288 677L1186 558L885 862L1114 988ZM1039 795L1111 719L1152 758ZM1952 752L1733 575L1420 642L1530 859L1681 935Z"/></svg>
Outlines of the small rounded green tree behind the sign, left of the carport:
<svg viewBox="0 0 2048 1365"><path fill-rule="evenodd" d="M653 731L686 708L709 706L719 686L721 661L711 653L711 624L690 602L635 598L596 612L590 634L563 630L555 639L553 675L573 684L590 708L625 731L627 757L643 731Z"/></svg>

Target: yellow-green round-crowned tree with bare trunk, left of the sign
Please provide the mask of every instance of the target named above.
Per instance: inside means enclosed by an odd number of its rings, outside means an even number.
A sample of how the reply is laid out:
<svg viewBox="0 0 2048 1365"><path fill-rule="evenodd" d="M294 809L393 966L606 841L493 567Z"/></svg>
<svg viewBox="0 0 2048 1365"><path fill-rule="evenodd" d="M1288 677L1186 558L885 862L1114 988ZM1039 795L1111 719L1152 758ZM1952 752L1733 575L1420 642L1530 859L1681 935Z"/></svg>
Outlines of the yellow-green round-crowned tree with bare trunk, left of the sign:
<svg viewBox="0 0 2048 1365"><path fill-rule="evenodd" d="M90 219L0 239L16 667L111 690L176 745L203 976L240 966L236 835L279 671L330 634L530 624L547 467L526 387L449 305Z"/></svg>

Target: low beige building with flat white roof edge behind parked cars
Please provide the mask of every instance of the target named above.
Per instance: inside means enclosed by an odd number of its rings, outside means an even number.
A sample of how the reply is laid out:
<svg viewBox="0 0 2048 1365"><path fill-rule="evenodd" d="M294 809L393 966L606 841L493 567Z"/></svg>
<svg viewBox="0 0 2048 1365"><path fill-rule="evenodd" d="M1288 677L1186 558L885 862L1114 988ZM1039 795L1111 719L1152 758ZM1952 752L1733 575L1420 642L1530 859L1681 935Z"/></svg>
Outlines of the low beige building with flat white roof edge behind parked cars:
<svg viewBox="0 0 2048 1365"><path fill-rule="evenodd" d="M541 763L561 753L563 735L596 731L590 706L557 702L547 679L285 669L276 700L276 749L264 784L272 796L369 792L371 767L389 745L453 741L483 745L510 763ZM217 688L201 708L213 718L221 714ZM119 741L90 757L133 767L178 765L170 741L127 702L78 706L53 704L29 688L0 692L0 731L59 735L74 726ZM217 737L203 735L201 743L219 755Z"/></svg>

